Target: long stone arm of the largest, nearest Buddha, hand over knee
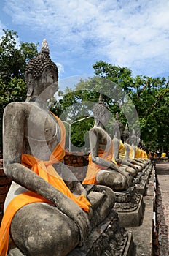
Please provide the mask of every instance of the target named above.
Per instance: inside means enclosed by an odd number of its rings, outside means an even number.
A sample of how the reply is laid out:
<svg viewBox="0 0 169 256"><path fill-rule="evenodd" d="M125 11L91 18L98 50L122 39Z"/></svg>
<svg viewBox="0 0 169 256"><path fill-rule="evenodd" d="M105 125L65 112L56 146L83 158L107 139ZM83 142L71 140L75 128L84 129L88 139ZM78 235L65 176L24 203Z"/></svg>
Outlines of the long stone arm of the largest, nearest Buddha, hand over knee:
<svg viewBox="0 0 169 256"><path fill-rule="evenodd" d="M60 211L74 220L81 230L83 239L87 236L89 229L87 214L58 189L20 164L23 153L24 126L24 105L20 103L7 105L4 110L4 173L17 184L54 203Z"/></svg>

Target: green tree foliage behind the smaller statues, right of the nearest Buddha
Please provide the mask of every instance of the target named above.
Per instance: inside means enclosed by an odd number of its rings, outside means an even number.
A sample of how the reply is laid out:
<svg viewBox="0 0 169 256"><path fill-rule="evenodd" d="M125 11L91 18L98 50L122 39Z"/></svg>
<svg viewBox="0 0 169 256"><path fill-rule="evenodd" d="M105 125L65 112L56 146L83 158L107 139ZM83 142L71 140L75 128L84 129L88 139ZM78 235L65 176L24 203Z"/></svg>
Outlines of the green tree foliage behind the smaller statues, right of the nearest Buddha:
<svg viewBox="0 0 169 256"><path fill-rule="evenodd" d="M135 129L146 147L153 151L157 148L168 150L168 81L165 78L151 78L137 75L133 78L132 72L127 67L114 66L104 61L93 64L95 75L87 80L80 80L75 89L66 89L63 98L61 116L70 123L75 118L92 116L93 104L98 102L99 94L111 111L111 123L119 112L122 123L130 124L130 132ZM90 103L89 103L90 102ZM79 116L78 116L79 115ZM111 123L107 130L111 134ZM71 129L71 140L74 146L82 147L84 133L92 126L76 124L76 129ZM88 125L88 126L87 126ZM79 128L78 128L79 126Z"/></svg>

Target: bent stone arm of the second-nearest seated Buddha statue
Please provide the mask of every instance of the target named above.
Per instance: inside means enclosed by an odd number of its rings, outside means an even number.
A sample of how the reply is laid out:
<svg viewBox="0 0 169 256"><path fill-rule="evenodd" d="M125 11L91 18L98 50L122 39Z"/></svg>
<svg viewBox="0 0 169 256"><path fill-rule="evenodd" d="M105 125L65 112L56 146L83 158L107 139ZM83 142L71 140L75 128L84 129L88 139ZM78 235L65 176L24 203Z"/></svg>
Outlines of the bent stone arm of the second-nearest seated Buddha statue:
<svg viewBox="0 0 169 256"><path fill-rule="evenodd" d="M108 161L106 159L103 159L102 157L99 157L99 138L102 137L102 133L97 129L92 129L89 132L89 138L90 138L90 151L91 151L91 157L92 157L92 161L97 164L97 165L101 165L103 167L107 167L110 170L117 170L119 171L119 167L117 165L114 164L114 162Z"/></svg>

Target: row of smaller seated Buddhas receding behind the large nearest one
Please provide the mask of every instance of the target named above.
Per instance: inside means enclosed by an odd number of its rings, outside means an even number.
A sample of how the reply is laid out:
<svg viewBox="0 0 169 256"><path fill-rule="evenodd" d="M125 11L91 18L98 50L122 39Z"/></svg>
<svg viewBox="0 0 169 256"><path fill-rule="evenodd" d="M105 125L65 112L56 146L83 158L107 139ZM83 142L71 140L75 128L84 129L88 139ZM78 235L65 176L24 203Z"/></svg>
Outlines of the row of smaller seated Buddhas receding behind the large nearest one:
<svg viewBox="0 0 169 256"><path fill-rule="evenodd" d="M124 133L119 124L117 113L113 123L114 138L105 131L104 126L109 121L109 110L100 96L93 109L95 125L90 129L90 156L87 176L83 184L102 184L120 191L127 189L139 170L142 170L149 159L146 151L136 146L137 139L134 132L132 145L128 141L130 132L126 126ZM120 129L121 128L121 129ZM121 137L124 135L125 143Z"/></svg>

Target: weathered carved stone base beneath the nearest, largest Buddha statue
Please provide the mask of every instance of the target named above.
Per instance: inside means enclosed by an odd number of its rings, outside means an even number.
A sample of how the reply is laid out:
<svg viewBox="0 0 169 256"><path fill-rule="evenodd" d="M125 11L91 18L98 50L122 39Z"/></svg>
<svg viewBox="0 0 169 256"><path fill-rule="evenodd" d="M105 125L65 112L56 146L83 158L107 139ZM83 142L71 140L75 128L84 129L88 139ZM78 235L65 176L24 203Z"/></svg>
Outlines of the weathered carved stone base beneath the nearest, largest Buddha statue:
<svg viewBox="0 0 169 256"><path fill-rule="evenodd" d="M95 227L82 247L68 256L134 256L133 236L119 224L118 214L112 210L101 225Z"/></svg>

